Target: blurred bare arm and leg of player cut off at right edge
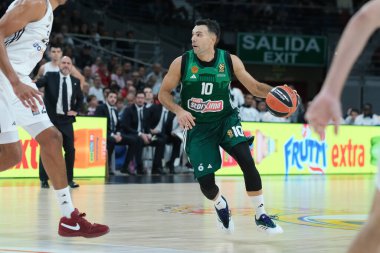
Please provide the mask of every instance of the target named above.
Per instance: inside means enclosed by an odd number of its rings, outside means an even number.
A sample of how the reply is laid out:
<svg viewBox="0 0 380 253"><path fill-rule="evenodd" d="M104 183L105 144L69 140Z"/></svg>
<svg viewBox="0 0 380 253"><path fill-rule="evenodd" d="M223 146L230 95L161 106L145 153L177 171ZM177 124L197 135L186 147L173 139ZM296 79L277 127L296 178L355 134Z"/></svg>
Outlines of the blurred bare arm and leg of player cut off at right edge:
<svg viewBox="0 0 380 253"><path fill-rule="evenodd" d="M322 89L306 113L309 124L318 134L324 134L330 121L334 122L335 133L338 133L339 119L342 117L340 96L345 81L367 40L378 28L380 0L372 0L363 5L344 29ZM380 165L378 170L372 210L348 253L380 252Z"/></svg>

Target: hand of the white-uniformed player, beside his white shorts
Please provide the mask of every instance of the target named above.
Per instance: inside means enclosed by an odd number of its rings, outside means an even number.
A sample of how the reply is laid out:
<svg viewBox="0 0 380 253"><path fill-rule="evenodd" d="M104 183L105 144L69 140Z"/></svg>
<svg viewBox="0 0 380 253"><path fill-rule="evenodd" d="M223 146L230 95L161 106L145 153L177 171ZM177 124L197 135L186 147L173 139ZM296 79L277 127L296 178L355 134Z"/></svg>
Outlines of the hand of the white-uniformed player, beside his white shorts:
<svg viewBox="0 0 380 253"><path fill-rule="evenodd" d="M16 84L13 85L13 91L16 94L16 96L20 99L21 103L26 108L31 108L34 112L38 111L36 101L40 103L40 105L44 104L41 98L43 93L37 89L34 89L31 86L22 83L21 81L18 81Z"/></svg>

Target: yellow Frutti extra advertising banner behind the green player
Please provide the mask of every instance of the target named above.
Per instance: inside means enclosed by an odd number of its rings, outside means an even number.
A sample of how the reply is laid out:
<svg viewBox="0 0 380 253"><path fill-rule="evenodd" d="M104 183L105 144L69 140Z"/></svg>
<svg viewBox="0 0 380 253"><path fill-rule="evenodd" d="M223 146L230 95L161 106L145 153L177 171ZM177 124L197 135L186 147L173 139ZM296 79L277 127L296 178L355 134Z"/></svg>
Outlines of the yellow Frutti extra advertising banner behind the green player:
<svg viewBox="0 0 380 253"><path fill-rule="evenodd" d="M322 140L308 125L243 122L245 135L255 137L251 150L260 174L375 173L380 158L380 127L329 126ZM242 175L236 161L221 150L218 175Z"/></svg>

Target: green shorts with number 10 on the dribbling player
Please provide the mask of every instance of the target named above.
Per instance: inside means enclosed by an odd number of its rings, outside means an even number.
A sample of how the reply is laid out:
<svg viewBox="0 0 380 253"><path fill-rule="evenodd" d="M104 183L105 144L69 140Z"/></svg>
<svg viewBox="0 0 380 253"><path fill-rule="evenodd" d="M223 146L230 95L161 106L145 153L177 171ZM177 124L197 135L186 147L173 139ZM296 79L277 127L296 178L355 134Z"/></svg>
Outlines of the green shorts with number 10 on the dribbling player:
<svg viewBox="0 0 380 253"><path fill-rule="evenodd" d="M222 165L219 146L227 153L238 143L253 142L244 136L237 113L211 123L196 123L186 133L185 150L194 168L195 178L214 173Z"/></svg>

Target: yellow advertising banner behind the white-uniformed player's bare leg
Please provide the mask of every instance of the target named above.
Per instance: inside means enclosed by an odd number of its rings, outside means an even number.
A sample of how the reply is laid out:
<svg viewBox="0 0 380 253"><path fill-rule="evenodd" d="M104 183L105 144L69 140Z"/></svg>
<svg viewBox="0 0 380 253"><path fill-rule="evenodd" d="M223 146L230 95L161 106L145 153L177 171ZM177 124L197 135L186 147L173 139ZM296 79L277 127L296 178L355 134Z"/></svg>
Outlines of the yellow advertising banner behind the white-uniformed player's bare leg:
<svg viewBox="0 0 380 253"><path fill-rule="evenodd" d="M107 119L77 117L74 123L75 177L105 177L107 154ZM0 173L0 178L38 177L40 146L24 129L19 128L22 161Z"/></svg>

